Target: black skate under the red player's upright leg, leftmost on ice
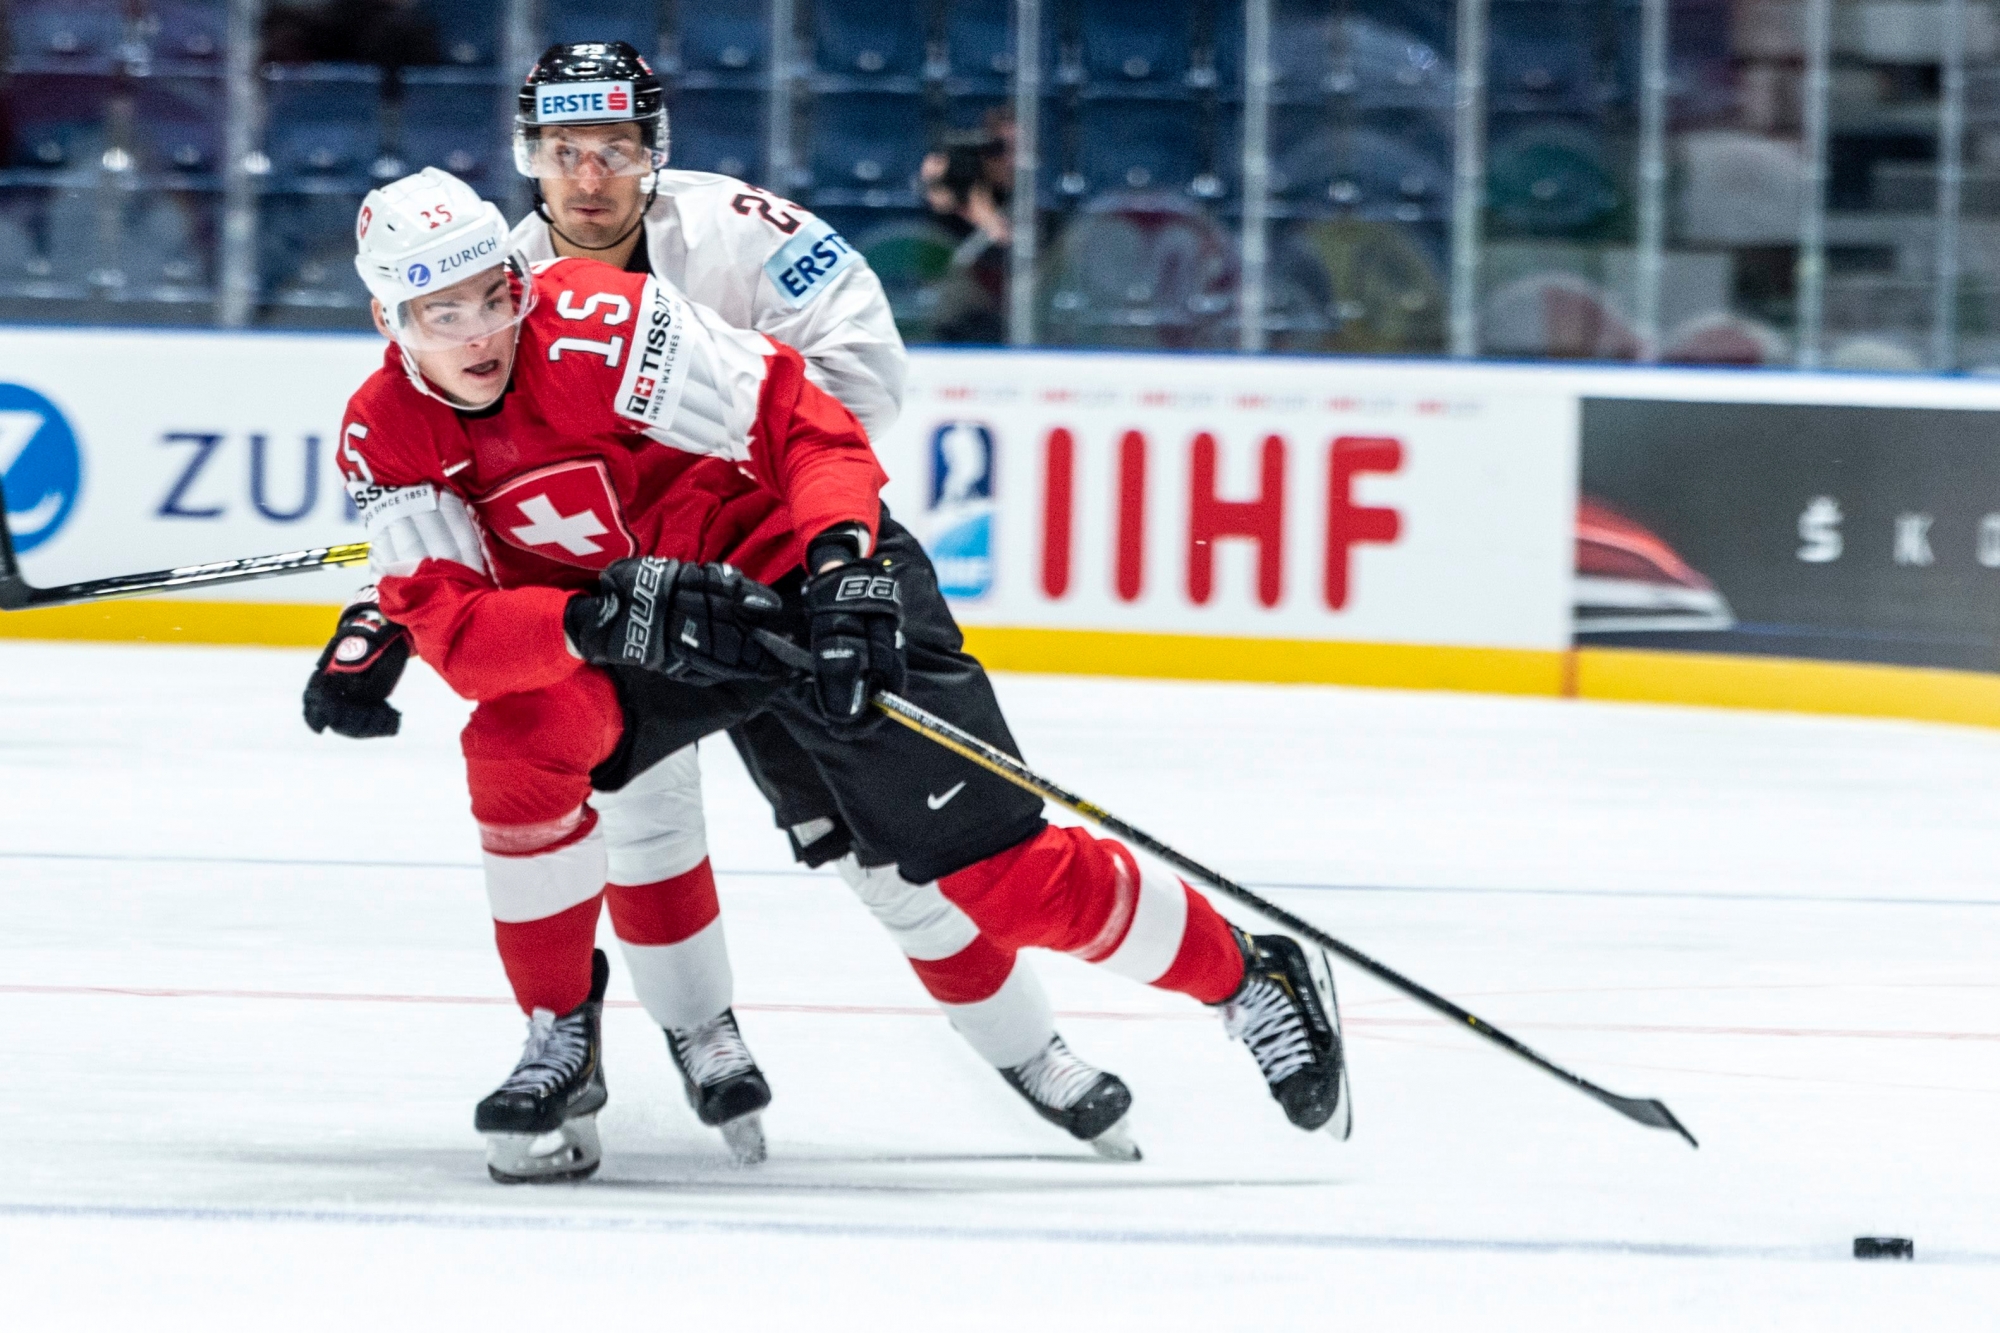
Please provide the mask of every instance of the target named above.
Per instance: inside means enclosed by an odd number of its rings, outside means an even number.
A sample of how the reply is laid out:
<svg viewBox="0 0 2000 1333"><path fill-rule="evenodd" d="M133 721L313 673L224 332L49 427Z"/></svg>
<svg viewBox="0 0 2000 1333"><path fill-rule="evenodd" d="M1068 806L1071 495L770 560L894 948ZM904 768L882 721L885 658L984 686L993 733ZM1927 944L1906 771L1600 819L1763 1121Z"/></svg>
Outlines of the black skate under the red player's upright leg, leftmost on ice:
<svg viewBox="0 0 2000 1333"><path fill-rule="evenodd" d="M598 1169L604 1109L604 951L590 959L590 999L560 1019L536 1009L514 1073L480 1103L472 1127L486 1135L486 1173L502 1185L580 1181Z"/></svg>

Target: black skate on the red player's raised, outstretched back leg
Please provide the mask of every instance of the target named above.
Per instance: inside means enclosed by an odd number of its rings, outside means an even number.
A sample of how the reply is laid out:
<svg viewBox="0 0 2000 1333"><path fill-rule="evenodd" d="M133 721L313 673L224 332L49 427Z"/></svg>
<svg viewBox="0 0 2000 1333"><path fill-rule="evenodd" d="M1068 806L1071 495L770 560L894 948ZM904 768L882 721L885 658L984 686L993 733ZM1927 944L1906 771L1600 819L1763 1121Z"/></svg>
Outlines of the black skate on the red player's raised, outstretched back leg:
<svg viewBox="0 0 2000 1333"><path fill-rule="evenodd" d="M1346 1139L1354 1107L1326 955L1288 935L1230 933L1244 951L1244 983L1222 1001L1222 1027L1250 1047L1288 1121Z"/></svg>

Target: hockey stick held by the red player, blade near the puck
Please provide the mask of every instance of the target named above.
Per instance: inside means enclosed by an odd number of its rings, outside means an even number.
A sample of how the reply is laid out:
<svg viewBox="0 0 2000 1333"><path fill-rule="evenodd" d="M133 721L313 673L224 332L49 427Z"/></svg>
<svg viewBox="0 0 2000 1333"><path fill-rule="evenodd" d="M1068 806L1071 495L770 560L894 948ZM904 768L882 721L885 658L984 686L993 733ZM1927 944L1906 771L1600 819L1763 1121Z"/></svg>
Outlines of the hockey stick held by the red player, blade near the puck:
<svg viewBox="0 0 2000 1333"><path fill-rule="evenodd" d="M780 662L784 662L786 666L792 666L794 671L812 671L812 654L806 652L806 648L800 648L790 638L784 638L782 634L774 634L770 630L756 630L756 636L758 636L758 642L762 642L766 648L770 648L772 654ZM1658 1099L1652 1099L1652 1097L1620 1097L1618 1093L1612 1093L1610 1089L1602 1089L1596 1083L1592 1083L1590 1079L1584 1079L1582 1075L1570 1073L1568 1069L1564 1069L1562 1065L1554 1063L1552 1059L1548 1059L1544 1055L1538 1055L1536 1051L1528 1049L1526 1045L1522 1045L1514 1037L1508 1037L1498 1027L1494 1027L1486 1019L1478 1017L1476 1013L1454 1005L1452 1001L1444 999L1442 995L1438 995L1436 991L1432 991L1432 989L1428 989L1424 985L1418 985L1416 981L1410 981L1408 977L1404 977L1396 969L1392 969L1392 967L1388 967L1384 963L1376 963L1374 959L1370 959L1360 949L1354 949L1352 945L1346 945L1346 943L1334 939L1326 931L1318 929L1316 925L1312 925L1310 921L1306 921L1302 917L1296 917L1296 915L1288 913L1286 909L1278 907L1270 899L1266 899L1266 897L1262 897L1258 893L1252 893L1250 889L1244 889L1236 881L1226 879L1226 877L1210 871L1200 861L1194 861L1192 857L1184 857L1182 853L1174 851L1172 847L1168 847L1160 839L1152 837L1144 829L1134 829L1132 825L1128 825L1126 821L1118 819L1116 815L1112 815L1104 807L1092 805L1090 801L1084 801L1076 793L1066 791L1066 789L1058 787L1056 783L1050 783L1046 777L1042 777L1040 773L1036 773L1034 769L1030 769L1022 761L1014 759L1006 751L1000 751L1000 749L996 749L992 745L986 745L984 741L980 741L972 733L962 731L962 729L954 727L952 723L946 723L936 713L920 709L914 703L910 703L908 699L902 699L900 695L890 695L888 691L878 691L876 697L874 697L874 705L876 705L876 709L880 709L882 713L886 713L890 719L902 723L904 727L908 727L910 731L914 731L914 733L918 733L922 737L928 737L930 741L936 741L944 749L970 759L980 769L986 769L988 773L994 773L994 775L1006 779L1008 783L1014 783L1016 787L1020 787L1024 791L1032 791L1034 795L1038 795L1038 797L1042 797L1046 801L1054 801L1056 805L1060 805L1066 811L1074 811L1076 815L1082 815L1084 819L1092 821L1094 825L1100 825L1102 829L1106 829L1110 833L1116 833L1118 837L1122 837L1122 839L1126 839L1126 841L1130 841L1130 843L1146 849L1148 853L1152 853L1160 861L1166 861L1170 867L1174 867L1182 875L1188 875L1190 879L1196 879L1196 881L1208 885L1210 889L1216 889L1218 893L1224 893L1224 895L1236 899L1238 903L1242 903L1250 911L1254 911L1254 913L1258 913L1262 917L1268 917L1270 921L1276 921L1284 929L1288 929L1288 931L1292 931L1292 933L1296 933L1296 935L1300 935L1304 939L1310 939L1320 949L1328 949L1332 953L1338 953L1342 959L1346 959L1354 967L1362 969L1364 973L1370 973L1378 981L1384 981L1384 983L1392 985L1394 989L1402 991L1410 999L1414 999L1414 1001L1418 1001L1422 1005L1428 1005L1430 1009L1436 1009L1438 1013L1442 1013L1444 1017L1452 1019L1454 1023L1464 1023L1474 1033L1478 1033L1486 1041L1494 1043L1502 1051L1510 1051L1512 1055L1518 1055L1520 1059L1528 1061L1530 1065L1534 1065L1542 1073L1556 1075L1558 1079L1562 1079L1564 1083L1568 1083L1576 1091L1588 1093L1590 1097L1596 1097L1598 1101L1602 1101L1606 1107L1610 1107L1618 1115L1622 1115L1622 1117L1626 1117L1630 1121L1638 1121L1640 1125L1648 1125L1652 1129L1670 1129L1670 1131L1678 1133L1682 1139L1686 1139L1690 1147L1702 1147L1700 1143L1696 1143L1694 1135L1688 1133L1688 1127L1682 1125L1678 1119L1674 1119L1674 1113L1666 1109L1666 1103L1662 1103Z"/></svg>

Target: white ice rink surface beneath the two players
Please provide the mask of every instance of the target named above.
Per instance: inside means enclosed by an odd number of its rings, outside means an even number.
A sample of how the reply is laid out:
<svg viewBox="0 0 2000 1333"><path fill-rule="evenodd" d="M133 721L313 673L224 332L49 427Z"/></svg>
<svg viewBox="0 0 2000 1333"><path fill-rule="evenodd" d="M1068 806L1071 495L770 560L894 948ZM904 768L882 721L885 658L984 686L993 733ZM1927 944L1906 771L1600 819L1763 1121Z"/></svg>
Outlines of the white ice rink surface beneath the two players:
<svg viewBox="0 0 2000 1333"><path fill-rule="evenodd" d="M2000 1325L1996 733L1002 679L1056 781L1702 1139L1340 965L1356 1129L1308 1137L1210 1013L1032 955L1140 1165L1034 1119L708 747L770 1163L614 953L604 1169L504 1189L464 705L414 669L402 737L312 737L310 662L0 644L8 1329Z"/></svg>

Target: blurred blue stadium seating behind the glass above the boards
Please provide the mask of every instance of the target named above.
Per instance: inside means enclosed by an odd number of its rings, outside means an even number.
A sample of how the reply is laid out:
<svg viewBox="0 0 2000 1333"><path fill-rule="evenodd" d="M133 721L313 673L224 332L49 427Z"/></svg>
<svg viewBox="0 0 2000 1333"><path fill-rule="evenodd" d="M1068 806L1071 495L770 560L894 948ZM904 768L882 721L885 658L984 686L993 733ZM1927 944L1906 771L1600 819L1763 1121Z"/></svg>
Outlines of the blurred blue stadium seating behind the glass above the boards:
<svg viewBox="0 0 2000 1333"><path fill-rule="evenodd" d="M360 194L434 162L518 216L510 50L624 38L668 78L676 166L826 214L890 282L906 336L932 340L964 228L924 206L918 166L1012 104L1016 2L780 2L790 68L774 62L770 0L292 4L388 16L388 36L370 48L350 32L362 54L346 60L286 58L264 14L238 52L246 104L228 92L232 0L14 0L0 318L360 326ZM1984 368L2000 362L2000 24L1972 6L1954 84L1926 36L1938 8L1832 4L1814 150L1806 4L1672 0L1664 152L1648 164L1642 0L1486 0L1484 182L1468 202L1454 194L1460 6L1274 0L1268 260L1246 340L1244 0L1040 0L1034 340L1444 352L1456 206L1478 212L1482 354ZM510 12L528 26L514 48ZM788 108L776 136L774 108ZM248 164L236 214L232 142ZM774 142L788 162L770 160ZM1666 182L1654 260L1646 170ZM252 252L234 304L232 228ZM1650 314L1636 308L1646 262Z"/></svg>

